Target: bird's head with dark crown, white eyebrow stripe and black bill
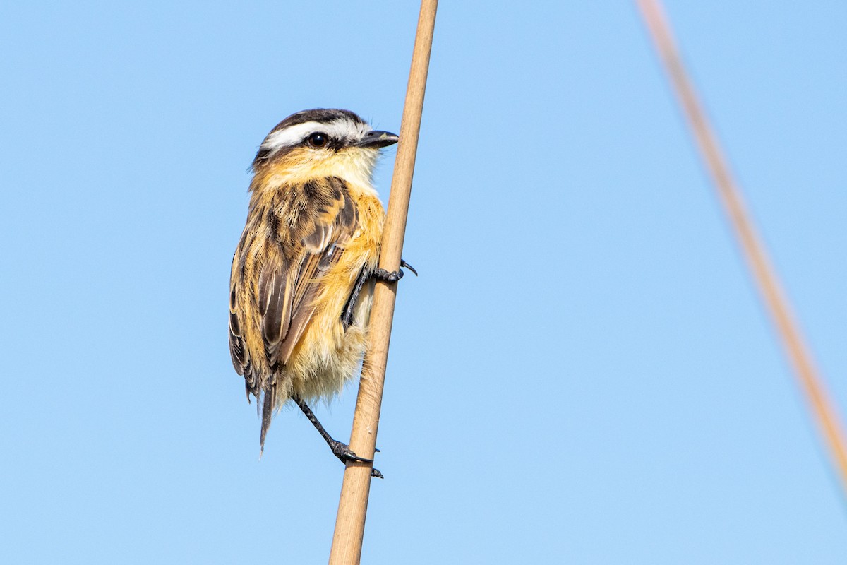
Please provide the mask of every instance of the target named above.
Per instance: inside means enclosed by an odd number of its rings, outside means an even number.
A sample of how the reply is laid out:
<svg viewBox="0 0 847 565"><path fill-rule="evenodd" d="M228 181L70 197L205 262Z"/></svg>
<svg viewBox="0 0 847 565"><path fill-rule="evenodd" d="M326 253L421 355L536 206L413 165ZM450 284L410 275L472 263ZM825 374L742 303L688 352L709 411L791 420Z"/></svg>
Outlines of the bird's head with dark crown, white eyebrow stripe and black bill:
<svg viewBox="0 0 847 565"><path fill-rule="evenodd" d="M393 133L374 130L349 110L304 110L270 131L252 170L270 185L337 176L370 186L379 149L398 139Z"/></svg>

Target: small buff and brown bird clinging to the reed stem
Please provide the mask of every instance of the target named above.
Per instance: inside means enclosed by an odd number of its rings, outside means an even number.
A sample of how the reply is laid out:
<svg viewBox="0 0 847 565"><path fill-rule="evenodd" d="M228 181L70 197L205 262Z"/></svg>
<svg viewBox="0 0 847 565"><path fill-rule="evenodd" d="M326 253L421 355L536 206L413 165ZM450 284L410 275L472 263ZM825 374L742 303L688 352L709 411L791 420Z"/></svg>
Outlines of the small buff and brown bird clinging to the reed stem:
<svg viewBox="0 0 847 565"><path fill-rule="evenodd" d="M332 439L307 402L352 378L374 279L402 277L378 268L385 210L371 186L379 149L398 139L348 110L305 110L274 127L253 159L232 259L230 354L247 401L262 406L261 451L274 410L291 399L342 462L371 463Z"/></svg>

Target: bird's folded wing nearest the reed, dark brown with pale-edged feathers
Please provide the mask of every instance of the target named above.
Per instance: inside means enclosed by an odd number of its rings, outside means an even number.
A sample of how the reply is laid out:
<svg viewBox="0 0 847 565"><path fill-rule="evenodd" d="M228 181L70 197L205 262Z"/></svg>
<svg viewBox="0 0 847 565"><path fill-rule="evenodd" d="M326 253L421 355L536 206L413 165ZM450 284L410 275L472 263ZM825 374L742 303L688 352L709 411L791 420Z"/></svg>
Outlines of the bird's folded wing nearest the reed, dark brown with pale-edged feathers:
<svg viewBox="0 0 847 565"><path fill-rule="evenodd" d="M287 196L276 223L282 252L263 265L258 281L262 337L271 367L288 361L312 319L324 273L357 229L356 204L343 180L310 181ZM293 226L291 218L296 218Z"/></svg>

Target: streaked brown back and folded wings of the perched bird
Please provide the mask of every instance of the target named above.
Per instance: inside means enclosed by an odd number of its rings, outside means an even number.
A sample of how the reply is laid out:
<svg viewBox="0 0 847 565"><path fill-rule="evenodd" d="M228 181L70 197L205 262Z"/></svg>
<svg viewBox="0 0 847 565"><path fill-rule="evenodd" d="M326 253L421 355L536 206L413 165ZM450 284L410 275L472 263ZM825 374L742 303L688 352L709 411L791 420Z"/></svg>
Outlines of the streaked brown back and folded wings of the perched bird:
<svg viewBox="0 0 847 565"><path fill-rule="evenodd" d="M344 180L335 177L309 181L251 208L232 261L229 324L230 356L244 376L248 400L264 391L265 407L273 405L275 370L301 340L324 274L357 228L356 204ZM246 341L253 332L262 337L264 358L253 358L261 355Z"/></svg>

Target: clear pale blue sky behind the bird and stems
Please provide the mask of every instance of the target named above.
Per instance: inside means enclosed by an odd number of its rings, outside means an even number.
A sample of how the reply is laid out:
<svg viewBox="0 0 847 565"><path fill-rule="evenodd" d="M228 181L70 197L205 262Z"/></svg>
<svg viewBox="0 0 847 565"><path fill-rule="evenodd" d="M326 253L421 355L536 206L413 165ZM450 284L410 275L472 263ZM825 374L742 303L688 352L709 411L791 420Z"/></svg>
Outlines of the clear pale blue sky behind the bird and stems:
<svg viewBox="0 0 847 565"><path fill-rule="evenodd" d="M230 258L280 119L399 129L418 5L290 4L0 8L0 561L326 561L342 467L292 410L257 461ZM847 4L667 9L847 407ZM363 562L847 561L633 3L442 3L404 256Z"/></svg>

